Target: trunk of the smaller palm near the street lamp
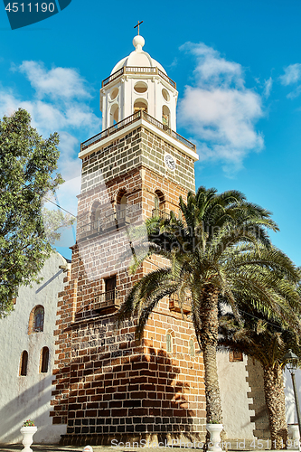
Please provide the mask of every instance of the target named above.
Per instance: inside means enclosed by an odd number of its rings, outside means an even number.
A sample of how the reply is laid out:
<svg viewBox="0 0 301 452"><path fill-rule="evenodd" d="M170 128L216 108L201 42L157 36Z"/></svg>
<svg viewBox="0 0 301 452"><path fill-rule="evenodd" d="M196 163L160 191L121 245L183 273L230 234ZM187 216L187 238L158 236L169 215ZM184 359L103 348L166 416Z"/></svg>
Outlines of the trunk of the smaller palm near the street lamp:
<svg viewBox="0 0 301 452"><path fill-rule="evenodd" d="M263 378L272 449L287 448L286 401L282 369L280 366L264 367Z"/></svg>

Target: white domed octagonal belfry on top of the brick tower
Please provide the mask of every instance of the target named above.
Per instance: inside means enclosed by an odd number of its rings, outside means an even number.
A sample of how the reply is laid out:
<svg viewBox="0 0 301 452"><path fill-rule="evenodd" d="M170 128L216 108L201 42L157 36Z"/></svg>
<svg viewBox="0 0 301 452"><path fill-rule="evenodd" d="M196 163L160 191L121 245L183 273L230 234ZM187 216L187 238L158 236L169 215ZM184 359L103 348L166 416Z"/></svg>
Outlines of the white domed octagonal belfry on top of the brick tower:
<svg viewBox="0 0 301 452"><path fill-rule="evenodd" d="M146 108L150 116L176 131L178 91L168 82L161 64L142 50L144 38L136 36L133 44L135 51L116 64L108 85L100 89L102 130L132 115L135 108ZM118 71L121 76L114 80Z"/></svg>

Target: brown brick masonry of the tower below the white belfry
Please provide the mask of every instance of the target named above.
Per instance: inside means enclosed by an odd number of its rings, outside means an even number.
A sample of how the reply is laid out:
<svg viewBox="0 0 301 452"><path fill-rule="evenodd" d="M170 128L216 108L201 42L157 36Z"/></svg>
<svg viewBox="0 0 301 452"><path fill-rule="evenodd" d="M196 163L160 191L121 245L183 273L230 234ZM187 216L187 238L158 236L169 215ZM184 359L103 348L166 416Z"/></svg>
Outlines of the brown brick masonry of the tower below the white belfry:
<svg viewBox="0 0 301 452"><path fill-rule="evenodd" d="M167 151L177 161L174 173L163 164ZM120 328L114 324L115 312L133 283L165 264L152 258L136 275L127 271L129 241L139 250L135 228L151 216L155 191L164 194L165 210L176 212L179 196L191 189L193 162L143 127L83 160L78 240L70 280L59 294L55 331L51 415L53 423L68 424L65 444L83 444L87 438L109 444L112 438L152 435L204 438L203 365L200 354L189 354L190 339L195 342L191 322L170 311L164 299L147 323L142 342L135 340L133 322ZM118 208L121 191L127 196L130 227L87 235L96 203L101 218L109 217ZM113 275L118 296L98 309L96 299L105 290L105 278ZM166 351L167 332L173 338L171 353Z"/></svg>

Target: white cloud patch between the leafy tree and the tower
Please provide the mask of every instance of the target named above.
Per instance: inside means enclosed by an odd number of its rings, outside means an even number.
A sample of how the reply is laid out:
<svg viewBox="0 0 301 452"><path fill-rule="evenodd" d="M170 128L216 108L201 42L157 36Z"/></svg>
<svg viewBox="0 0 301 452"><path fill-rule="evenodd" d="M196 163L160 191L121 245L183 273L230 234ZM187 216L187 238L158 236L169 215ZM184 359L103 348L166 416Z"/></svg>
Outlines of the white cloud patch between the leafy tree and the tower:
<svg viewBox="0 0 301 452"><path fill-rule="evenodd" d="M90 97L85 88L86 82L73 69L55 68L47 71L42 63L36 61L24 61L19 67L14 67L14 71L21 71L25 75L33 89L36 89L36 95L21 99L13 89L5 89L0 85L0 116L9 116L18 108L25 108L32 116L33 127L43 137L48 137L54 131L59 133L61 155L58 165L62 177L67 181L60 189L61 205L67 205L70 200L71 212L76 212L81 166L77 131L85 131L89 137L100 130L100 119L84 99L79 100L83 96Z"/></svg>

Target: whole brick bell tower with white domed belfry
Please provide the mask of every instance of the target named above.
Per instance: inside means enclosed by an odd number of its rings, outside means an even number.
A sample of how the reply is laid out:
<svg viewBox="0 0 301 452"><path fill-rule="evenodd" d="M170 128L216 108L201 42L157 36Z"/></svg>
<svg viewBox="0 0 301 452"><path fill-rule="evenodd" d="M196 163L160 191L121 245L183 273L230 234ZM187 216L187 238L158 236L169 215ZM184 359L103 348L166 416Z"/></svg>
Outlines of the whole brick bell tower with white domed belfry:
<svg viewBox="0 0 301 452"><path fill-rule="evenodd" d="M174 81L144 52L139 33L133 44L102 81L102 130L80 146L77 241L58 303L52 392L53 423L67 425L66 445L204 439L203 365L189 299L183 313L176 297L161 300L140 342L135 319L116 326L136 280L167 265L152 257L129 271L133 252L146 253L144 222L178 213L179 197L194 191L198 159L176 133Z"/></svg>

